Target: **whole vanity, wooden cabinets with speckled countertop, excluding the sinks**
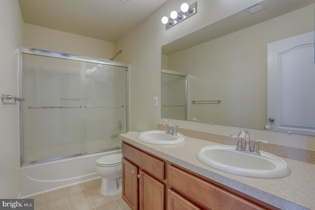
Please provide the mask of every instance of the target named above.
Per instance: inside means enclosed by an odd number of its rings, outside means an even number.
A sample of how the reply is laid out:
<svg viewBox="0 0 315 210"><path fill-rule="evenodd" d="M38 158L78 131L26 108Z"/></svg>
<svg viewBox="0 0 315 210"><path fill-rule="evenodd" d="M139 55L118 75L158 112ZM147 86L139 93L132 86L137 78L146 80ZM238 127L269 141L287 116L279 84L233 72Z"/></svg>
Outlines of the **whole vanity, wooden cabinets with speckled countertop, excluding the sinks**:
<svg viewBox="0 0 315 210"><path fill-rule="evenodd" d="M122 195L133 210L315 209L314 164L284 158L291 169L285 178L241 177L208 167L196 158L202 147L218 143L186 136L178 145L153 145L137 140L139 134L120 135Z"/></svg>

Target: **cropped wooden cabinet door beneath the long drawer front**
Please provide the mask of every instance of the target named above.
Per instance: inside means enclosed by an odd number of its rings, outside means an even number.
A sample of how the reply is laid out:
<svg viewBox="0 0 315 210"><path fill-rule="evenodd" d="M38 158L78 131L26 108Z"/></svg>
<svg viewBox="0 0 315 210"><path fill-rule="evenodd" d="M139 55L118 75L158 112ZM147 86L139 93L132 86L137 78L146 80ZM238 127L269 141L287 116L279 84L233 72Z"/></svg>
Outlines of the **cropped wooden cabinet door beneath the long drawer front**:
<svg viewBox="0 0 315 210"><path fill-rule="evenodd" d="M167 210L201 210L173 190L169 189L167 196Z"/></svg>

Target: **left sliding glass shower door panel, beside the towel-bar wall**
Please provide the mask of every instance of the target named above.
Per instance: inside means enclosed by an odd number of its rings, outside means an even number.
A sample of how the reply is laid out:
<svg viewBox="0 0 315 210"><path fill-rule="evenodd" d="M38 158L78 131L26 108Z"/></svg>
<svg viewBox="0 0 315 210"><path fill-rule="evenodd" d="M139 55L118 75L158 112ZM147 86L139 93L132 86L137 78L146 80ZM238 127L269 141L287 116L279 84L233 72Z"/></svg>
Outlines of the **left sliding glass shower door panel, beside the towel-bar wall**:
<svg viewBox="0 0 315 210"><path fill-rule="evenodd" d="M84 62L31 54L22 60L24 162L85 152Z"/></svg>

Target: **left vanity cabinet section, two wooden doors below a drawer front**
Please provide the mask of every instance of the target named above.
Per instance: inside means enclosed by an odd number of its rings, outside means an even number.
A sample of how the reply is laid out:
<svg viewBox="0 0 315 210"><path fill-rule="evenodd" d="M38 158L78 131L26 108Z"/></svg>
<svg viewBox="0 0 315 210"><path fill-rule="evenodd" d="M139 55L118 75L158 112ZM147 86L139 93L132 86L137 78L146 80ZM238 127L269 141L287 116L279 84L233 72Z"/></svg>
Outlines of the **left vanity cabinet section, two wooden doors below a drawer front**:
<svg viewBox="0 0 315 210"><path fill-rule="evenodd" d="M132 210L164 210L166 163L126 143L122 153L124 201Z"/></svg>

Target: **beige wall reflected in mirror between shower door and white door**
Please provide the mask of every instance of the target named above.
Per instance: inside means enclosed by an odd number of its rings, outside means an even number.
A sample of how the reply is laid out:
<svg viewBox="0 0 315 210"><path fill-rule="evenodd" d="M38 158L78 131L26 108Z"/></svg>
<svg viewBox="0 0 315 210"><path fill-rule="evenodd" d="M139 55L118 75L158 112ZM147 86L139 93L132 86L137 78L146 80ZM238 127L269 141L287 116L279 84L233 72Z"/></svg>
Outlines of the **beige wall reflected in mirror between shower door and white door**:
<svg viewBox="0 0 315 210"><path fill-rule="evenodd" d="M169 55L167 69L189 72L189 102L222 100L220 104L189 103L188 119L263 129L267 43L314 30L313 19L314 5L309 5Z"/></svg>

